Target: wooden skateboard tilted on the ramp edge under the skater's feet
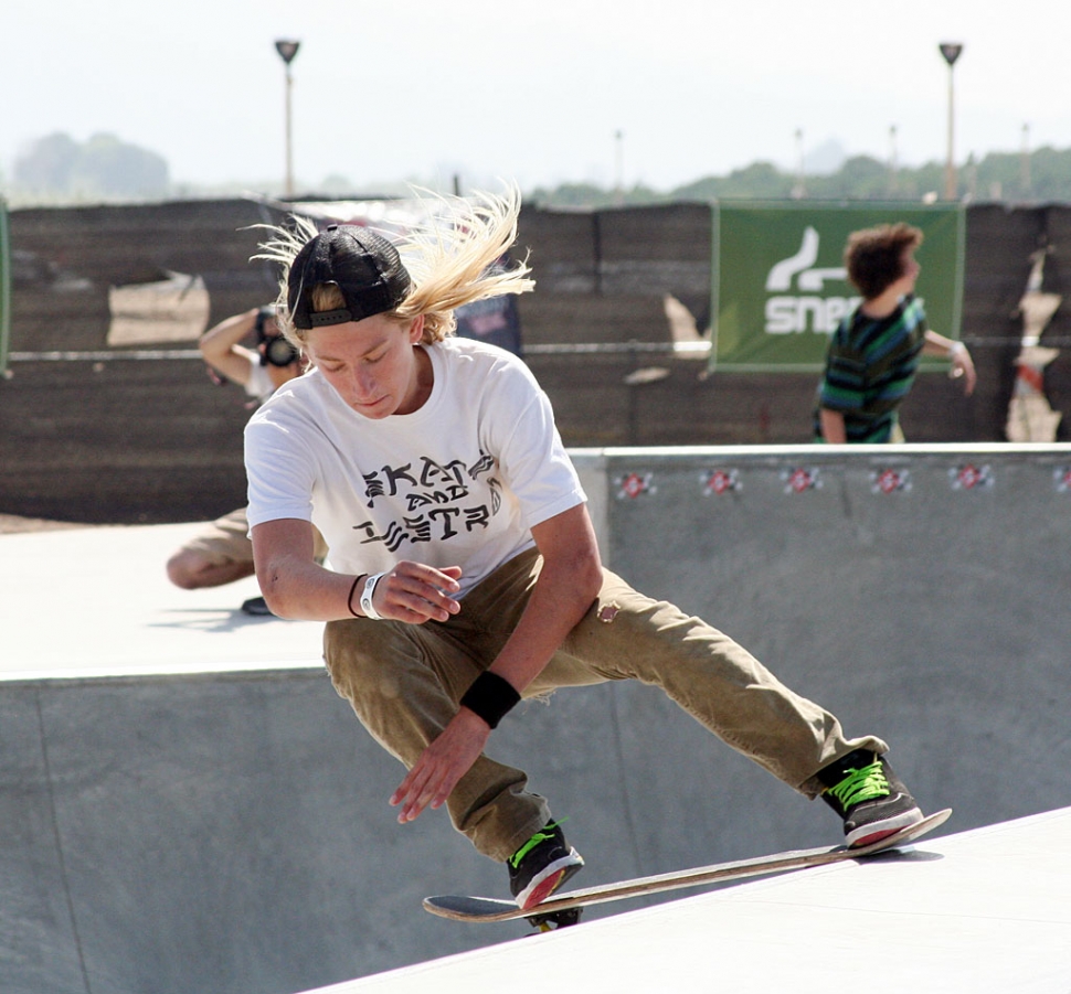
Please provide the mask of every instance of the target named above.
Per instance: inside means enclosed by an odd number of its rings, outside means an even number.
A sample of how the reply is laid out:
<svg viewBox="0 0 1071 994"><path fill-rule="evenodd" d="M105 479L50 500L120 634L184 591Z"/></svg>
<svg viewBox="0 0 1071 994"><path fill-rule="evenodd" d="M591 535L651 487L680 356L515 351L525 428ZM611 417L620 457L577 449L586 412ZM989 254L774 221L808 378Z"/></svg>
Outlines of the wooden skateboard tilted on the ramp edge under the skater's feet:
<svg viewBox="0 0 1071 994"><path fill-rule="evenodd" d="M633 880L621 880L616 884L604 884L554 895L527 911L522 911L513 901L453 894L424 898L424 909L433 915L438 915L441 918L449 918L454 921L513 921L527 918L537 928L547 931L550 928L575 924L580 920L581 910L588 905L601 905L606 901L623 900L645 894L662 894L667 890L678 890L685 887L699 887L702 884L720 884L727 880L742 880L746 877L759 877L766 874L787 873L812 866L828 866L831 863L872 856L920 838L939 825L943 825L951 814L952 809L946 808L927 815L921 822L908 829L882 838L880 842L853 849L842 845L833 848L796 849L777 853L773 856L739 859L734 863L714 863L711 866L699 866L677 873L637 877Z"/></svg>

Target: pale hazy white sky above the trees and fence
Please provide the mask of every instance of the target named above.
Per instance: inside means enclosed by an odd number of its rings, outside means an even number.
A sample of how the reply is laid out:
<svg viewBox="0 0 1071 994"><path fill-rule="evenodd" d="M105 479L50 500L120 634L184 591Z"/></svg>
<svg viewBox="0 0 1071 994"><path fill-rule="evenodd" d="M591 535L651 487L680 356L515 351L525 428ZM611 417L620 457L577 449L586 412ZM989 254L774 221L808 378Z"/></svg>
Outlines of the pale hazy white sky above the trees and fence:
<svg viewBox="0 0 1071 994"><path fill-rule="evenodd" d="M0 11L0 180L98 132L178 184L416 182L668 191L837 142L900 165L1071 148L1071 4L1054 0L35 0Z"/></svg>

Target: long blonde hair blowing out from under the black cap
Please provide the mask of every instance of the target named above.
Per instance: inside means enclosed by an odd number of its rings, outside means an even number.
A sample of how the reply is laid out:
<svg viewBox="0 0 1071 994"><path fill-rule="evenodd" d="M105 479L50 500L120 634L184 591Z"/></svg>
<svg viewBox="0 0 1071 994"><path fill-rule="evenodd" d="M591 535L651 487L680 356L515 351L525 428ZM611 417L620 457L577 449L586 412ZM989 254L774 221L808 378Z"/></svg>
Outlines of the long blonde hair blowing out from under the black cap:
<svg viewBox="0 0 1071 994"><path fill-rule="evenodd" d="M496 265L517 241L521 197L516 185L508 186L503 194L479 192L471 199L428 194L420 201L427 221L395 242L412 286L388 316L410 320L423 314L421 341L432 345L454 333L457 308L488 297L527 293L536 288L536 281L529 277L527 254L523 261L510 268ZM295 257L318 234L318 228L311 220L298 216L286 225L264 227L269 237L261 243L261 250L253 258L280 264L278 323L283 334L303 349L308 331L295 328L290 320L287 279ZM338 287L321 284L312 291L312 306L316 311L328 311L344 307L344 301Z"/></svg>

